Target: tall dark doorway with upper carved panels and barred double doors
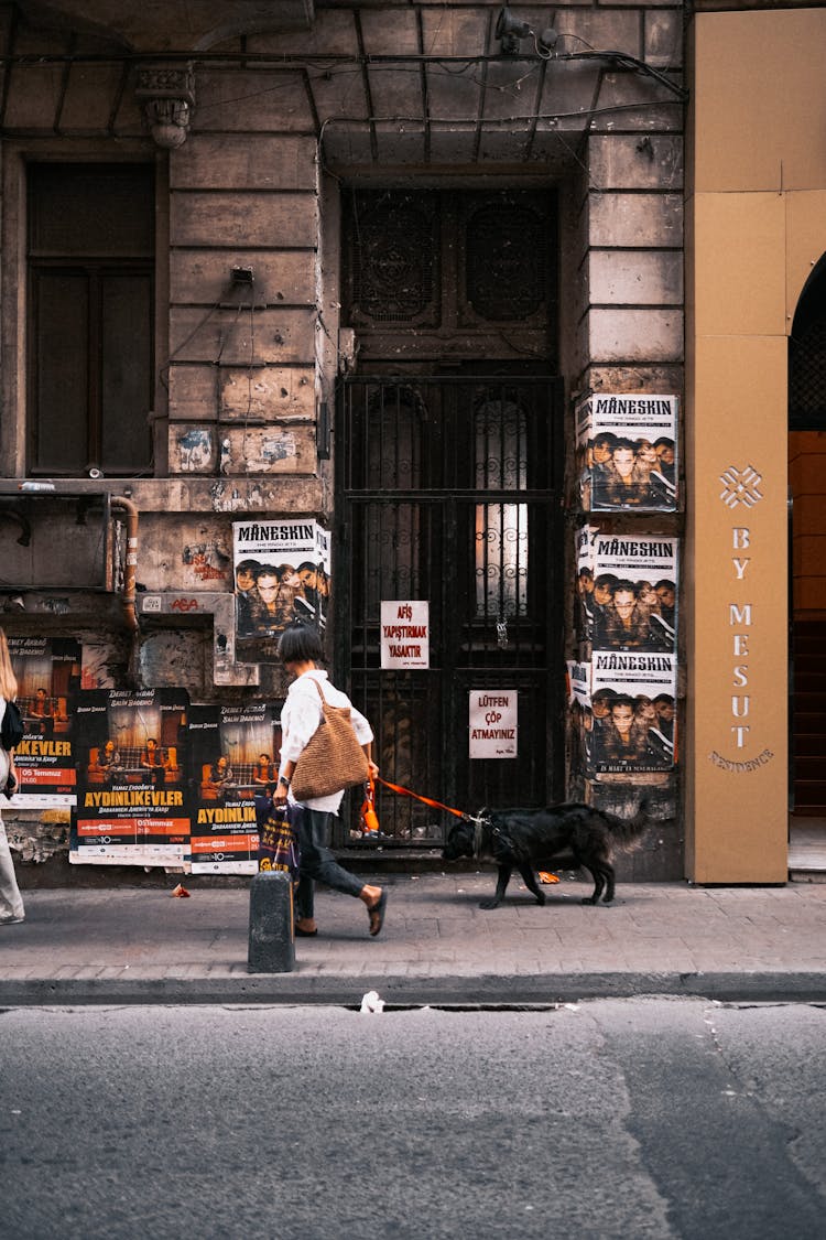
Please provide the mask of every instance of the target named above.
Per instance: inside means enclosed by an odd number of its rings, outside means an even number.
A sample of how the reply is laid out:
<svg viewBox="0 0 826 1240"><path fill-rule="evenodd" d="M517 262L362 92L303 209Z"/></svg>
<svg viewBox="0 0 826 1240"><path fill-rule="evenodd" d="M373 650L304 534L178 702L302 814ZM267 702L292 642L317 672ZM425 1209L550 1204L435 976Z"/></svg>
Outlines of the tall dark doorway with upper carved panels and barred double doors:
<svg viewBox="0 0 826 1240"><path fill-rule="evenodd" d="M385 779L471 812L544 804L565 713L555 197L354 190L342 239L358 371L336 423L339 671ZM388 601L427 603L428 667L381 668ZM471 692L497 691L516 754L471 756ZM378 808L399 844L452 821L381 790Z"/></svg>

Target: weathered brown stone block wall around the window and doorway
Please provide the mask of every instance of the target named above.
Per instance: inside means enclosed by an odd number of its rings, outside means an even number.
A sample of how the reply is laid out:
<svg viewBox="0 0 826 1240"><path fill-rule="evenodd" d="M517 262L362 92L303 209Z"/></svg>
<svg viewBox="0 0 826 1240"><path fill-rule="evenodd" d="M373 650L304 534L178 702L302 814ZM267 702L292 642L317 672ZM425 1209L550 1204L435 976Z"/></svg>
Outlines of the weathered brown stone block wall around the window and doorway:
<svg viewBox="0 0 826 1240"><path fill-rule="evenodd" d="M192 125L167 155L152 146L119 43L12 21L15 6L0 5L5 50L31 57L4 81L0 474L12 480L24 460L27 159L157 164L156 476L128 485L147 591L230 591L239 515L334 518L316 419L322 401L332 410L348 326L339 322L342 180L555 186L568 393L682 394L682 103L614 61L567 58L608 50L679 82L682 6L531 5L518 15L536 31L555 26L562 55L537 61L531 38L521 51L533 60L489 61L499 7L318 7L310 31L233 38L202 62L192 50ZM103 51L111 61L37 61ZM388 60L401 56L431 60ZM251 270L251 284L238 283L235 268ZM27 601L47 614L42 599ZM78 608L72 599L67 627L97 624L114 650L116 615ZM284 691L267 668L258 687L217 686L211 641L208 619L146 624L137 673L147 686L185 684L194 701ZM52 825L42 830L52 838Z"/></svg>

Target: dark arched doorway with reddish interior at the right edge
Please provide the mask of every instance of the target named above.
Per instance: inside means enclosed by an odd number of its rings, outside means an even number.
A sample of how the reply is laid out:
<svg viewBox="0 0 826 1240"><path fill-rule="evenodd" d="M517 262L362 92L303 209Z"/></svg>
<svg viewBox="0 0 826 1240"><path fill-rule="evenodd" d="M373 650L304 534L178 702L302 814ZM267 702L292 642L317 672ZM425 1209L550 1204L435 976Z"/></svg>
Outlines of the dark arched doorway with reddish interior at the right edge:
<svg viewBox="0 0 826 1240"><path fill-rule="evenodd" d="M826 255L789 339L790 870L826 870Z"/></svg>

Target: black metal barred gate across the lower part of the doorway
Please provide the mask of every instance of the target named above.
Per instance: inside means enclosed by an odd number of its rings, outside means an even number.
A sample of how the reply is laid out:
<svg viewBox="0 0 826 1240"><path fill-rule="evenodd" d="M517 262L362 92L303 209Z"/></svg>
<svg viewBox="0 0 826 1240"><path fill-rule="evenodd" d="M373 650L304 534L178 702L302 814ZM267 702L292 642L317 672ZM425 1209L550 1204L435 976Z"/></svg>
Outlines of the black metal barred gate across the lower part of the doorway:
<svg viewBox="0 0 826 1240"><path fill-rule="evenodd" d="M560 792L561 414L549 378L354 377L339 391L339 676L383 776L459 808ZM383 600L427 600L427 670L381 670ZM503 689L518 694L518 755L471 759L469 693ZM379 797L399 844L437 844L453 821Z"/></svg>

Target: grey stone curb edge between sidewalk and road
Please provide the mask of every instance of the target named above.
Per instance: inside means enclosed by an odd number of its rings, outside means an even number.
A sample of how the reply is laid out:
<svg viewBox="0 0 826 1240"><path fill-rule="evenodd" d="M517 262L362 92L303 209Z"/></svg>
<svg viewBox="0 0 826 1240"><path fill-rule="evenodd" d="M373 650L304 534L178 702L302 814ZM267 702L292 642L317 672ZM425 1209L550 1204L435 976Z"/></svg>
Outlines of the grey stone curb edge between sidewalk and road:
<svg viewBox="0 0 826 1240"><path fill-rule="evenodd" d="M826 1004L826 973L567 973L409 977L367 973L298 977L234 973L211 977L25 978L0 982L0 1007L305 1004L358 1007L376 990L385 1007L552 1006L597 998L672 996L729 1003Z"/></svg>

